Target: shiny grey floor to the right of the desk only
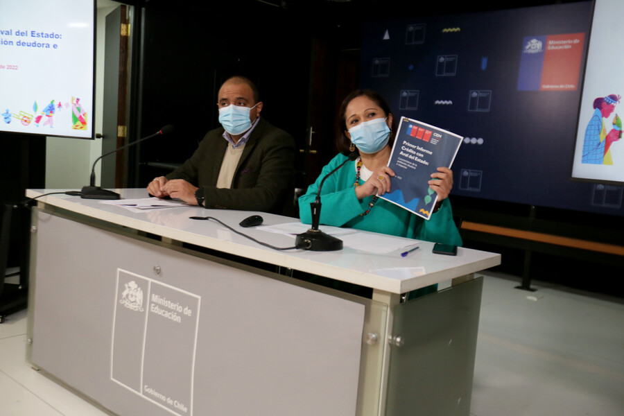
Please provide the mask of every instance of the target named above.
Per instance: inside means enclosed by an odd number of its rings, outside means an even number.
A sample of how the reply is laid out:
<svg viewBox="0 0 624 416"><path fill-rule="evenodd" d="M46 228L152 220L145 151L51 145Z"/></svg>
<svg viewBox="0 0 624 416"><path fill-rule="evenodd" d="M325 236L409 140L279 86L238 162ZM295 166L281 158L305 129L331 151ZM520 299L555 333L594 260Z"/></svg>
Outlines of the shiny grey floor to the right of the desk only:
<svg viewBox="0 0 624 416"><path fill-rule="evenodd" d="M486 277L475 416L624 415L624 300Z"/></svg>

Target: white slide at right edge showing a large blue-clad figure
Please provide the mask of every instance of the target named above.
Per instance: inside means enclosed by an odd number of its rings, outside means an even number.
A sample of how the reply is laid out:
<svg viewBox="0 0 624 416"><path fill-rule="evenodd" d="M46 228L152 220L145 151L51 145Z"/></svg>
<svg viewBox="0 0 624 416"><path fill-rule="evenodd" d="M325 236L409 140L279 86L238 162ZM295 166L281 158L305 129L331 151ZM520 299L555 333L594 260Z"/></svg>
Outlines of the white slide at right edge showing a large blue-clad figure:
<svg viewBox="0 0 624 416"><path fill-rule="evenodd" d="M614 31L624 14L621 0L598 0L587 54L572 177L624 184L624 34Z"/></svg>

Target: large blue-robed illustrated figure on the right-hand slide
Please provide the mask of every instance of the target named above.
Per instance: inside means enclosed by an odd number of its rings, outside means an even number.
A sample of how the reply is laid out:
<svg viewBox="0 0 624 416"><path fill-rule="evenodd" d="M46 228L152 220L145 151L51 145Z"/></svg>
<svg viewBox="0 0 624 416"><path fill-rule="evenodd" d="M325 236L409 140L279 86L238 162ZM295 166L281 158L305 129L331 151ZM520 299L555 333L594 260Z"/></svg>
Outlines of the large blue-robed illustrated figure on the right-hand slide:
<svg viewBox="0 0 624 416"><path fill-rule="evenodd" d="M621 96L610 94L606 97L596 98L593 101L593 116L591 116L591 120L589 120L585 129L582 163L605 164L605 154L608 152L608 147L606 146L607 136L609 137L610 146L613 141L619 139L618 137L614 140L614 136L619 136L619 132L614 128L607 134L604 119L607 119L614 112L616 104L620 102L620 98ZM616 118L619 119L617 116ZM606 162L609 162L606 164L613 164L610 153Z"/></svg>

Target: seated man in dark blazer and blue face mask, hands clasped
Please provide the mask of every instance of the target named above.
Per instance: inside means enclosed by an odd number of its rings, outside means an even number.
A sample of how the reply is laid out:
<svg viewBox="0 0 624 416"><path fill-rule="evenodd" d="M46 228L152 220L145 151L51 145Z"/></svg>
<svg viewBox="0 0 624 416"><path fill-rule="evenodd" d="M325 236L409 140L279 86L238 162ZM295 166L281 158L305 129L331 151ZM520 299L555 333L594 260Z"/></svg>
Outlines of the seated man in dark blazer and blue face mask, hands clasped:
<svg viewBox="0 0 624 416"><path fill-rule="evenodd" d="M260 117L262 102L248 78L226 80L217 106L222 127L209 131L180 168L150 182L148 192L206 208L281 211L294 171L293 137Z"/></svg>

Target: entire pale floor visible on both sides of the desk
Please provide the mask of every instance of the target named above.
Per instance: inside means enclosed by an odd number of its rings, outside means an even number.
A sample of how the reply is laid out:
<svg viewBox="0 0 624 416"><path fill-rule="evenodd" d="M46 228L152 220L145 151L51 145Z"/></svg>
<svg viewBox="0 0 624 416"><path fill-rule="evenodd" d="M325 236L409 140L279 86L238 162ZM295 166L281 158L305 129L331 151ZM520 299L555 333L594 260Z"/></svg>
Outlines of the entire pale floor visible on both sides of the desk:
<svg viewBox="0 0 624 416"><path fill-rule="evenodd" d="M485 276L471 415L624 415L624 300L517 283ZM31 369L25 349L21 311L0 324L0 415L106 414Z"/></svg>

